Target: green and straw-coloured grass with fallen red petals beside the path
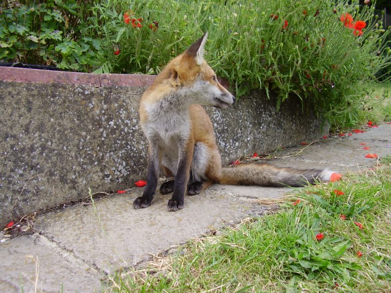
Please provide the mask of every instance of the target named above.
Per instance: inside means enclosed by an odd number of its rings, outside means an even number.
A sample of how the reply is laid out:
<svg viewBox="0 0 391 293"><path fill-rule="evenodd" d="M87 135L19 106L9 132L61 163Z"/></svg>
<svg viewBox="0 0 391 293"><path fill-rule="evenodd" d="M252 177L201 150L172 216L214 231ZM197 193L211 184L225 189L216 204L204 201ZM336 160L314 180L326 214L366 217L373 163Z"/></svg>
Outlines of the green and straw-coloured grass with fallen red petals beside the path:
<svg viewBox="0 0 391 293"><path fill-rule="evenodd" d="M274 214L193 240L178 248L184 253L157 258L147 268L118 273L107 291L390 290L390 178L388 157L342 181L300 189ZM334 189L345 194L336 196ZM316 240L318 233L323 240Z"/></svg>

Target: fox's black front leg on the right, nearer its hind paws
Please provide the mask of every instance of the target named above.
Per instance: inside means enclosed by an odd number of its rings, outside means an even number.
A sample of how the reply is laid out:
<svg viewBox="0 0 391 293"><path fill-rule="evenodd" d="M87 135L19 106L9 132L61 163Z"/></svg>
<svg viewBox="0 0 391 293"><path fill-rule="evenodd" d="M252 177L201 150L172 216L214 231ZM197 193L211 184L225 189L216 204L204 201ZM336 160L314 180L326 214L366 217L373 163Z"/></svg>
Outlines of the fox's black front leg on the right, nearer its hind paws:
<svg viewBox="0 0 391 293"><path fill-rule="evenodd" d="M186 143L179 143L179 162L174 180L174 192L167 205L169 211L183 209L185 192L189 181L190 166L193 159L193 151L193 139L189 139Z"/></svg>

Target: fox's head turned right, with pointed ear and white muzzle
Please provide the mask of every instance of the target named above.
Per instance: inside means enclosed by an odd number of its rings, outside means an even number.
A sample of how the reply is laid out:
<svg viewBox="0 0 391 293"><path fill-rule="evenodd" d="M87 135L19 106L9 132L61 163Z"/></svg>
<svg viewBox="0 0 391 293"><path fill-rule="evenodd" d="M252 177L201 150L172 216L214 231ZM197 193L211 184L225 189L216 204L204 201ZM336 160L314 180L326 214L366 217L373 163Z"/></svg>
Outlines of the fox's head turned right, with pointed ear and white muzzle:
<svg viewBox="0 0 391 293"><path fill-rule="evenodd" d="M235 102L235 96L222 86L215 71L204 59L204 46L208 33L176 57L167 67L172 85L181 99L191 104L226 108Z"/></svg>

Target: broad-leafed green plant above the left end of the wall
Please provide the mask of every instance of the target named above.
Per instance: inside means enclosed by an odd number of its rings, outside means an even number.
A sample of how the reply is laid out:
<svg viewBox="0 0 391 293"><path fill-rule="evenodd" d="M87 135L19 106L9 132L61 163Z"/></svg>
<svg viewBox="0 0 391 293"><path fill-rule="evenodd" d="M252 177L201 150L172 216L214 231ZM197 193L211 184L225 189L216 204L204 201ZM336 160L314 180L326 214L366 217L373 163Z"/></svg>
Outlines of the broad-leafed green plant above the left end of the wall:
<svg viewBox="0 0 391 293"><path fill-rule="evenodd" d="M76 71L88 71L95 64L99 43L82 34L88 1L7 1L2 5L0 60Z"/></svg>

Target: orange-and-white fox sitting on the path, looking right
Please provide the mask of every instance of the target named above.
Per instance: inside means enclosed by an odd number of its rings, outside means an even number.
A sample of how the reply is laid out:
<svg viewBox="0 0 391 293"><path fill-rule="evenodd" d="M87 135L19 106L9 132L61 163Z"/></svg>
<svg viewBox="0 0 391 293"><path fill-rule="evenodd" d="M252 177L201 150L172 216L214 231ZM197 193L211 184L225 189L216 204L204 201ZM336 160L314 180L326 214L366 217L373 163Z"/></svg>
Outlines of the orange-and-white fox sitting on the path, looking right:
<svg viewBox="0 0 391 293"><path fill-rule="evenodd" d="M160 186L173 192L167 209L183 209L185 193L199 194L211 184L300 187L329 181L328 169L296 169L244 163L222 167L212 122L203 106L227 108L236 97L217 80L204 59L206 32L157 75L140 100L141 128L148 141L147 185L133 202L147 208L155 196L160 166L174 180Z"/></svg>

